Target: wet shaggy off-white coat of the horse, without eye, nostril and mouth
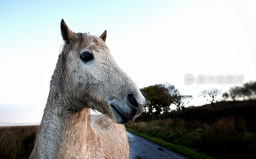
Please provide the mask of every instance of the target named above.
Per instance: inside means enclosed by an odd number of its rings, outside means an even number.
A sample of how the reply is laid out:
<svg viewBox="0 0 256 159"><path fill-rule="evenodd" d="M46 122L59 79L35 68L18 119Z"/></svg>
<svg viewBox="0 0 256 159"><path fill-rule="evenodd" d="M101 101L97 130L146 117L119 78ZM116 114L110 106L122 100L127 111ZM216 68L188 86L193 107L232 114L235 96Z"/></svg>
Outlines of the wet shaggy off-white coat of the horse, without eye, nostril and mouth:
<svg viewBox="0 0 256 159"><path fill-rule="evenodd" d="M139 106L145 104L144 97L109 54L104 43L106 31L100 37L73 33L62 20L61 32L65 44L52 75L30 159L128 159L128 137L124 125L117 124L123 120L109 102L115 101L118 109L129 112L127 92L138 97ZM83 50L93 52L97 62L93 67L92 62L79 63ZM89 108L104 115L90 115ZM133 116L127 113L127 117Z"/></svg>

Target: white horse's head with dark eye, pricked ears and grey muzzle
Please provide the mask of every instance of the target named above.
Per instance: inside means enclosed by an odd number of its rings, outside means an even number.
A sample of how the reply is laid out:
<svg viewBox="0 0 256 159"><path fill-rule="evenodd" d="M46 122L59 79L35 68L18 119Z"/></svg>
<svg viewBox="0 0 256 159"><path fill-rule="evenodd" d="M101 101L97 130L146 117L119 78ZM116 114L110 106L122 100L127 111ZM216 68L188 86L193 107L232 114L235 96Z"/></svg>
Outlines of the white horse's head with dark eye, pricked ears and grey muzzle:
<svg viewBox="0 0 256 159"><path fill-rule="evenodd" d="M107 31L100 37L74 33L63 19L60 28L65 42L58 61L63 107L71 111L89 107L116 123L134 122L145 98L109 53Z"/></svg>

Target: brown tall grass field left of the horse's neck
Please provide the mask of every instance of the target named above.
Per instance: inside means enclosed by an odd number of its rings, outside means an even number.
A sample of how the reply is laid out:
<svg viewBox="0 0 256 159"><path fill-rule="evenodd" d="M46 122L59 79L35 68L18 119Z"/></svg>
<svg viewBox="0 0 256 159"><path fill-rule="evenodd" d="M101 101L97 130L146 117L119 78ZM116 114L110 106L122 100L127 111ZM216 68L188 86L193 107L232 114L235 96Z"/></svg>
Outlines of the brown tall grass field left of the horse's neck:
<svg viewBox="0 0 256 159"><path fill-rule="evenodd" d="M28 159L34 147L37 126L0 127L0 158Z"/></svg>

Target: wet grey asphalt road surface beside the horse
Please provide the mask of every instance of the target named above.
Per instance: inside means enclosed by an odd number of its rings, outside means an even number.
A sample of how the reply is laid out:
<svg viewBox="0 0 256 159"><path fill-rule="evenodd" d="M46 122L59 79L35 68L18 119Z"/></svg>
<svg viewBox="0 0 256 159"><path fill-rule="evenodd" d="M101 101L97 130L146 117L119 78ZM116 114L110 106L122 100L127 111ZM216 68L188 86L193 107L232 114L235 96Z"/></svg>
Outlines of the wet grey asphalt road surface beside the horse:
<svg viewBox="0 0 256 159"><path fill-rule="evenodd" d="M189 159L152 141L127 131L129 159Z"/></svg>

